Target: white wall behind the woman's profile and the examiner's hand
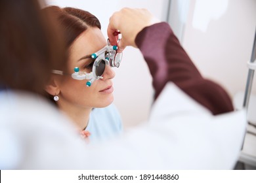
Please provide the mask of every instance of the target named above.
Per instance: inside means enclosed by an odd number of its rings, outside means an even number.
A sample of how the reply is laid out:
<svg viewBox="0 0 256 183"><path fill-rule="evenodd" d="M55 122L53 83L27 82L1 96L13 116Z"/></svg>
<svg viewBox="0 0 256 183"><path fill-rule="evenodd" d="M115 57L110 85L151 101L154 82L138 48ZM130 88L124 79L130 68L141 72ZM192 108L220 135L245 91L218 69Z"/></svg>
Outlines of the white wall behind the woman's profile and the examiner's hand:
<svg viewBox="0 0 256 183"><path fill-rule="evenodd" d="M113 12L122 7L147 8L160 20L165 20L169 0L48 0L48 5L76 7L88 10L100 20L107 38L106 27ZM151 76L139 50L126 48L114 78L114 95L125 127L146 120L152 103Z"/></svg>

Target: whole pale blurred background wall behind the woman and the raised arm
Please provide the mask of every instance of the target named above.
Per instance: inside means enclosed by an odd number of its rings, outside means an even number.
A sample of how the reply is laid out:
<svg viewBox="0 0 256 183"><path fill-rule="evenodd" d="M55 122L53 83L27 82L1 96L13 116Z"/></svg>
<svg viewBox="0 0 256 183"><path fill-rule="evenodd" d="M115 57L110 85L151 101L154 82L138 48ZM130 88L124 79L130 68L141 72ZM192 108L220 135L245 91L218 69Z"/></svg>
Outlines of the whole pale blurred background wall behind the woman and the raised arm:
<svg viewBox="0 0 256 183"><path fill-rule="evenodd" d="M47 0L47 5L88 10L100 20L106 39L108 20L123 7L147 8L168 22L200 72L223 86L232 99L243 97L247 61L256 27L255 0ZM114 95L125 127L148 118L152 78L139 50L126 48L114 78ZM256 94L253 81L252 94Z"/></svg>

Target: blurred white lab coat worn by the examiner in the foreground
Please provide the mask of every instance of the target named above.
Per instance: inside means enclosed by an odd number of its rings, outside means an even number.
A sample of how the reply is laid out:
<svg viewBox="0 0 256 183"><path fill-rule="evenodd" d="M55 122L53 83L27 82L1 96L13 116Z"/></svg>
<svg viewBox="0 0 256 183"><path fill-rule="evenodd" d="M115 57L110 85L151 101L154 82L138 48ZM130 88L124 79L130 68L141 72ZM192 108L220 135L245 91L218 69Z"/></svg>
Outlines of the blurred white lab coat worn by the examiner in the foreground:
<svg viewBox="0 0 256 183"><path fill-rule="evenodd" d="M171 82L148 122L102 144L86 144L39 97L0 101L0 169L232 169L246 126L244 110L213 116Z"/></svg>

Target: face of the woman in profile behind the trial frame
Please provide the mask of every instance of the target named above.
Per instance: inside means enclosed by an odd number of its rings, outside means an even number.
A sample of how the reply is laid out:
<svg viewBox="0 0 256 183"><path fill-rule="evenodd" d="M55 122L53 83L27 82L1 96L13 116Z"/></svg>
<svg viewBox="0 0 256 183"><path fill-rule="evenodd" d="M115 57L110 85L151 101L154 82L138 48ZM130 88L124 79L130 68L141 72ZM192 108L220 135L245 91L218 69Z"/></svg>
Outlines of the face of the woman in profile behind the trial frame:
<svg viewBox="0 0 256 183"><path fill-rule="evenodd" d="M70 46L68 73L74 73L74 67L79 67L80 71L91 73L93 59L81 58L93 54L104 46L106 46L106 39L100 29L89 27ZM85 85L87 80L74 80L71 76L64 76L65 78L60 84L58 103L60 106L70 105L82 108L110 105L114 100L112 78L115 76L110 65L106 65L102 76L102 79L95 80L90 87Z"/></svg>

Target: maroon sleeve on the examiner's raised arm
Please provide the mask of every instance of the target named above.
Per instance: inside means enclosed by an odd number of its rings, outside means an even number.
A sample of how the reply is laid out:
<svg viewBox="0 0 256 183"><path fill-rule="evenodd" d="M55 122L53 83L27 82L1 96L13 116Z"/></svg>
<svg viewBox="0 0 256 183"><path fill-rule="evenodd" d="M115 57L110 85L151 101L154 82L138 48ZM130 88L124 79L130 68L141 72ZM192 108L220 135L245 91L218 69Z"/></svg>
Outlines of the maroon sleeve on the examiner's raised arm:
<svg viewBox="0 0 256 183"><path fill-rule="evenodd" d="M145 27L135 42L153 77L155 99L167 82L173 82L213 114L234 110L228 93L219 84L202 77L169 24L161 22Z"/></svg>

